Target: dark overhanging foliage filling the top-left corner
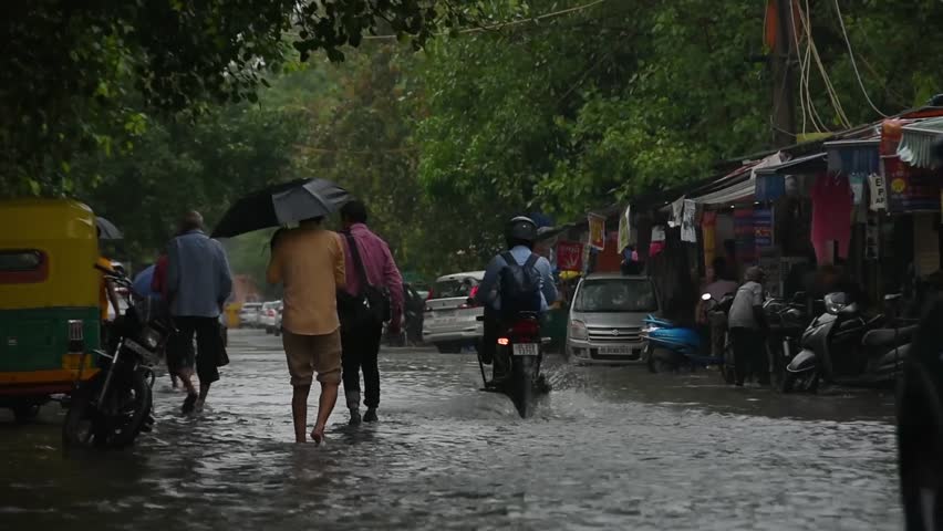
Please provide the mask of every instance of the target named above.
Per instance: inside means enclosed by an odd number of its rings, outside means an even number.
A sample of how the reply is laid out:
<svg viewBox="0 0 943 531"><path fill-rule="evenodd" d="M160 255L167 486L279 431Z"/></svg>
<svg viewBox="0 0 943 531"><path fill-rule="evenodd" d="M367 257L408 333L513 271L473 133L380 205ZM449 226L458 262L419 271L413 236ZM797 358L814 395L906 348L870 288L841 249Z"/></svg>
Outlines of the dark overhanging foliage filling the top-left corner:
<svg viewBox="0 0 943 531"><path fill-rule="evenodd" d="M377 29L428 33L417 0L13 2L0 22L0 175L7 192L68 192L76 154L111 153L151 111L256 102L292 49L343 59Z"/></svg>

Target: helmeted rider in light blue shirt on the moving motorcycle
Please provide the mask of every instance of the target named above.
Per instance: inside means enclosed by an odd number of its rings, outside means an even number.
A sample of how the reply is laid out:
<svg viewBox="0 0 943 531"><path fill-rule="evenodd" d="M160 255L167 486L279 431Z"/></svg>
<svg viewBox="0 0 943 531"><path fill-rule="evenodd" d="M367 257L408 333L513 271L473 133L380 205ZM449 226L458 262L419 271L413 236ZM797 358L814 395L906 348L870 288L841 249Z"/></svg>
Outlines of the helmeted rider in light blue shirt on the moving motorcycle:
<svg viewBox="0 0 943 531"><path fill-rule="evenodd" d="M501 271L508 267L505 257L509 253L518 266L525 266L533 256L533 243L537 241L537 223L530 218L519 216L508 221L505 228L505 241L507 242L508 252L500 253L491 259L488 268L485 271L485 279L478 285L478 291L475 295L475 301L485 305L485 334L481 340L480 353L481 358L486 364L491 363L495 357L498 333L501 321L501 305L507 306L508 301L501 301ZM557 287L553 283L553 272L550 262L538 257L533 261L533 272L540 279L540 312L546 312L548 304L557 300ZM514 303L511 303L514 305ZM501 361L504 362L504 361ZM499 368L506 367L508 364L501 363L499 367L496 365L496 377Z"/></svg>

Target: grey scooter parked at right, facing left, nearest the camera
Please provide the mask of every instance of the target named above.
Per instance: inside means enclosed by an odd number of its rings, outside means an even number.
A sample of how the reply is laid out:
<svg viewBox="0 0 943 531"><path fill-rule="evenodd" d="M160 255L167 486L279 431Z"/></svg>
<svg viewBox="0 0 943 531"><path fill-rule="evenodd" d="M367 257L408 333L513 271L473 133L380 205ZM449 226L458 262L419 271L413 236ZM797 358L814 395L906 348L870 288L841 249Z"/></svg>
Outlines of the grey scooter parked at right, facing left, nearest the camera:
<svg viewBox="0 0 943 531"><path fill-rule="evenodd" d="M900 295L888 295L894 302ZM826 313L802 334L802 352L786 367L783 392L816 392L819 381L874 386L894 382L901 373L916 326L881 327L883 315L864 319L858 303L844 293L825 298Z"/></svg>

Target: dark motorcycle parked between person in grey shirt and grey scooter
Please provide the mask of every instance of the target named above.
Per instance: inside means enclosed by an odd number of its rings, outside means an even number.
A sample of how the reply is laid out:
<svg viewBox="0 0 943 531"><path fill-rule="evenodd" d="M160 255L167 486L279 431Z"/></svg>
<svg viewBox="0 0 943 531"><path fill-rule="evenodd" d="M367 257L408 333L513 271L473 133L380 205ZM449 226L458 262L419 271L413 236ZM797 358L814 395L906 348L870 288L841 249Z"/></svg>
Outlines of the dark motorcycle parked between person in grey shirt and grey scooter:
<svg viewBox="0 0 943 531"><path fill-rule="evenodd" d="M791 301L770 298L763 304L769 334L766 346L773 382L781 387L786 367L801 348L802 332L809 326L806 293L798 292Z"/></svg>

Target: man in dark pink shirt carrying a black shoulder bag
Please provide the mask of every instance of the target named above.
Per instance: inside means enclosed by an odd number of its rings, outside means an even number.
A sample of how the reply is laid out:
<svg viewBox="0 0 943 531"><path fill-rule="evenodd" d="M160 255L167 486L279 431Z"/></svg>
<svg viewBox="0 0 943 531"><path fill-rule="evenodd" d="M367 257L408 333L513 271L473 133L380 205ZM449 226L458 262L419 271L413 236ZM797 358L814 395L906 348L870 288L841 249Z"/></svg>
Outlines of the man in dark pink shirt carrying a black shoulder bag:
<svg viewBox="0 0 943 531"><path fill-rule="evenodd" d="M380 342L383 322L391 335L400 333L403 315L403 277L390 247L366 226L366 206L350 201L341 208L344 230L346 288L338 299L343 343L344 395L351 424L360 424L360 373L363 371L363 420L377 420L380 406Z"/></svg>

